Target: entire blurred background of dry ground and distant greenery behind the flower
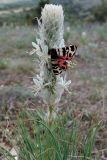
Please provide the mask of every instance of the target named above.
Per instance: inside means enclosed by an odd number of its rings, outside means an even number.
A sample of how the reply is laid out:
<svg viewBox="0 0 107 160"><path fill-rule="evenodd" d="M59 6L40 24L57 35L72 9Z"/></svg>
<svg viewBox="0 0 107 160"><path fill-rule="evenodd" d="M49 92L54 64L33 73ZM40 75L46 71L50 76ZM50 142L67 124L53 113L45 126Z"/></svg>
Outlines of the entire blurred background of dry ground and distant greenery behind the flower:
<svg viewBox="0 0 107 160"><path fill-rule="evenodd" d="M68 76L72 95L62 97L62 109L106 120L107 0L0 1L0 120L23 107L44 107L30 89L36 66L29 52L46 3L63 6L65 42L78 45L77 65Z"/></svg>

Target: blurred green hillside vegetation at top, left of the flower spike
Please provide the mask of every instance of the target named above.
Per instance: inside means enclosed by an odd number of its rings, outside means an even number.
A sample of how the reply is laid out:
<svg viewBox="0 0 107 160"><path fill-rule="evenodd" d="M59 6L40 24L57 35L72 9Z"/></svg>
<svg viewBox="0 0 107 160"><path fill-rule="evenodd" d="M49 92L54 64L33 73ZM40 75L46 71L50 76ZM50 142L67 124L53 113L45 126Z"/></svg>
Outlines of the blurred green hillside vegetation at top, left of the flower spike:
<svg viewBox="0 0 107 160"><path fill-rule="evenodd" d="M30 2L29 2L30 3ZM33 3L33 4L32 4ZM37 17L40 17L41 9L44 7L45 4L49 3L49 0L41 0L40 2L33 1L31 6L23 6L23 3L16 5L10 5L10 7L7 5L7 8L5 10L9 11L8 14L3 14L0 16L0 26L3 26L3 24L17 26L17 25L32 25L36 24ZM25 4L25 3L24 3ZM27 3L26 3L27 4ZM28 5L28 4L27 4ZM24 7L24 8L22 8ZM26 7L29 7L29 10L26 10ZM22 8L22 11L19 13L15 13L14 10L18 10Z"/></svg>

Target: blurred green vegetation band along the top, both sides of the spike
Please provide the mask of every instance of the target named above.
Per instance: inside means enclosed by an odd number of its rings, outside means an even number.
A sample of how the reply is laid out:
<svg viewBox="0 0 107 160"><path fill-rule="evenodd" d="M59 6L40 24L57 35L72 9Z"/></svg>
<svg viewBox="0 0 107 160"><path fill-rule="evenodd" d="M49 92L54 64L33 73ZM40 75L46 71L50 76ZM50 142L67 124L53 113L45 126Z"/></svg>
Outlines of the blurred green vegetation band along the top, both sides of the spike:
<svg viewBox="0 0 107 160"><path fill-rule="evenodd" d="M29 3L9 4L2 10L8 10L9 14L0 15L0 26L6 25L34 25L37 24L36 18L40 18L41 9L45 4L53 3L51 0L40 0ZM56 3L56 1L54 1ZM57 2L58 3L58 2ZM61 1L64 8L65 21L72 24L78 22L105 22L107 20L107 2L102 0L101 3L86 8L82 2ZM15 13L14 10L22 9L21 12ZM29 8L27 10L27 8ZM1 11L2 11L1 10Z"/></svg>

